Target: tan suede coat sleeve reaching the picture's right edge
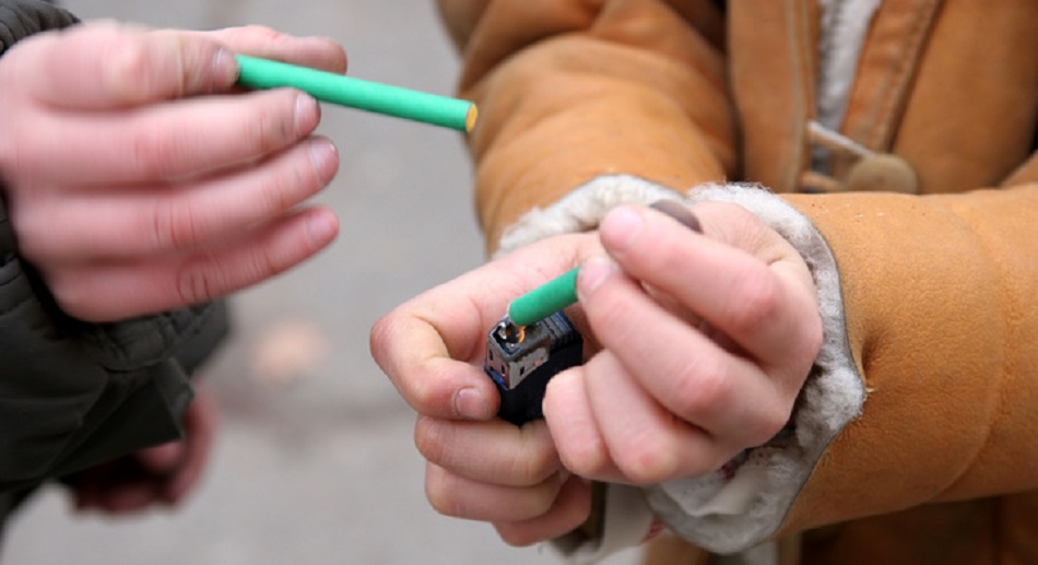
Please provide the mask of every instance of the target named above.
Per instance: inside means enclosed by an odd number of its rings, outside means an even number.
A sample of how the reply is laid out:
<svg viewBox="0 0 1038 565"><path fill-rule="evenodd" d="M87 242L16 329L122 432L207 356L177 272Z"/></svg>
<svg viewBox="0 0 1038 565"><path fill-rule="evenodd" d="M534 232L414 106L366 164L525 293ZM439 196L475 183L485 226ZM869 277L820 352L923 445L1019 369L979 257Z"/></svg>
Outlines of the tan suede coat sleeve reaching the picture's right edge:
<svg viewBox="0 0 1038 565"><path fill-rule="evenodd" d="M786 528L1038 489L1038 178L791 200L839 264L868 396Z"/></svg>

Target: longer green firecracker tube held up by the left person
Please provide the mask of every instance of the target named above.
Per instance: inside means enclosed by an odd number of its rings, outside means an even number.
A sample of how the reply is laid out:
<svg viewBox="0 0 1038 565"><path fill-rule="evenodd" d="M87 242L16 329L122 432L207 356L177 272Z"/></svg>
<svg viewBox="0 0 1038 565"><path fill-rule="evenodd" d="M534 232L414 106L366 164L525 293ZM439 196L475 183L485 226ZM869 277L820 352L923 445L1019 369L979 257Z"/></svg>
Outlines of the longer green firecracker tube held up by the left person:
<svg viewBox="0 0 1038 565"><path fill-rule="evenodd" d="M238 85L247 89L298 89L315 98L351 108L396 116L460 131L472 131L477 110L469 101L412 91L308 69L269 59L236 55Z"/></svg>

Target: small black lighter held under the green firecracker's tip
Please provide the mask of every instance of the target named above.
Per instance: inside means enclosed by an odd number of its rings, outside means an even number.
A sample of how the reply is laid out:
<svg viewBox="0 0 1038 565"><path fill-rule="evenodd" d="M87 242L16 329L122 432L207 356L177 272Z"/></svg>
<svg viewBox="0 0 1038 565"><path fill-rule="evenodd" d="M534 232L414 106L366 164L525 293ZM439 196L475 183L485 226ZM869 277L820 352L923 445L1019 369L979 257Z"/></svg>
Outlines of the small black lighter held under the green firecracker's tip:
<svg viewBox="0 0 1038 565"><path fill-rule="evenodd" d="M583 361L583 338L562 311L518 327L506 316L486 334L483 370L500 391L502 420L521 426L542 417L547 381Z"/></svg>

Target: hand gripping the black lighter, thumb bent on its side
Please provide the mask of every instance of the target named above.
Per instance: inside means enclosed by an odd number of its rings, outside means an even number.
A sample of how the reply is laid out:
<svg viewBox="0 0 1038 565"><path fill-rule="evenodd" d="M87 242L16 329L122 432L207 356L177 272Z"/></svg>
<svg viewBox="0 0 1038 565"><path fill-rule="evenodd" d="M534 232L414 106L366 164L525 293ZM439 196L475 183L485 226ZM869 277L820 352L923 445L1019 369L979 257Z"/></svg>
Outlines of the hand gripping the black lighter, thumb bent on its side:
<svg viewBox="0 0 1038 565"><path fill-rule="evenodd" d="M418 413L415 444L438 511L494 522L514 544L561 535L588 516L590 489L562 467L545 423L517 427L495 417L499 397L482 364L486 333L510 299L601 251L594 234L528 246L415 297L373 328L376 362Z"/></svg>

